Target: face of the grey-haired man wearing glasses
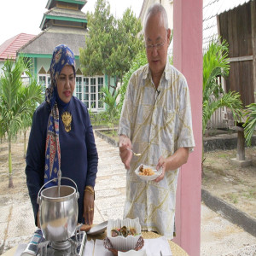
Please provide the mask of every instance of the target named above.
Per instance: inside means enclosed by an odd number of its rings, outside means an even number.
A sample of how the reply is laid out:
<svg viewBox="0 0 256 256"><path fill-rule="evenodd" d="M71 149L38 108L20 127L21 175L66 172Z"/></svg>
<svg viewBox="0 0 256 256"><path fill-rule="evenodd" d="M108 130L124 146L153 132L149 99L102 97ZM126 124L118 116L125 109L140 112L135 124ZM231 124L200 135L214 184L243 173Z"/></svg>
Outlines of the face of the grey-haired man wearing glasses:
<svg viewBox="0 0 256 256"><path fill-rule="evenodd" d="M166 67L170 33L171 32L169 29L166 30L164 22L160 18L160 14L151 15L148 17L144 38L148 65L153 76L157 74L161 75Z"/></svg>

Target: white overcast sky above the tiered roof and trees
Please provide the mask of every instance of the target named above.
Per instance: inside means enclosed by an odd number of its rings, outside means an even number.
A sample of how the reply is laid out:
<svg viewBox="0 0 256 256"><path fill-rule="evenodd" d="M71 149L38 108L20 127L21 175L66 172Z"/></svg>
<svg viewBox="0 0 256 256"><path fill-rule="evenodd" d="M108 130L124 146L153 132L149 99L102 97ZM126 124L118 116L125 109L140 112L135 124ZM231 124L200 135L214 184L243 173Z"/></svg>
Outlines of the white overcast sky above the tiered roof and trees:
<svg viewBox="0 0 256 256"><path fill-rule="evenodd" d="M0 44L19 33L37 35L39 26L47 11L47 0L0 0ZM143 0L108 0L111 13L120 17L125 9L131 7L135 15L140 14ZM96 0L88 0L82 11L93 11Z"/></svg>

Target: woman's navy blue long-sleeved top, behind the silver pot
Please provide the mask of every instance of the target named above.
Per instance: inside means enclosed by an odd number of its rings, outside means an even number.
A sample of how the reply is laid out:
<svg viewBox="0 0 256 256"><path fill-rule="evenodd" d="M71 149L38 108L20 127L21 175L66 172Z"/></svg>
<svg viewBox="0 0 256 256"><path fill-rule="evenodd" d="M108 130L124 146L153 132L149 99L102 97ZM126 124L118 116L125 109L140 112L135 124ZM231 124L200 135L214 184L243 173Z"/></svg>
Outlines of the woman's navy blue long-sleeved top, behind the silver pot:
<svg viewBox="0 0 256 256"><path fill-rule="evenodd" d="M83 102L73 96L65 110L61 106L58 108L60 113L61 175L73 179L78 186L78 221L82 223L85 186L94 187L96 183L98 154L95 138L90 124L90 116ZM61 120L61 113L64 111L72 114L71 131L69 132L65 131ZM36 109L26 153L26 184L32 201L36 225L38 224L38 192L44 185L45 143L49 113L49 104L46 102ZM65 179L61 180L62 184L73 185L72 182Z"/></svg>

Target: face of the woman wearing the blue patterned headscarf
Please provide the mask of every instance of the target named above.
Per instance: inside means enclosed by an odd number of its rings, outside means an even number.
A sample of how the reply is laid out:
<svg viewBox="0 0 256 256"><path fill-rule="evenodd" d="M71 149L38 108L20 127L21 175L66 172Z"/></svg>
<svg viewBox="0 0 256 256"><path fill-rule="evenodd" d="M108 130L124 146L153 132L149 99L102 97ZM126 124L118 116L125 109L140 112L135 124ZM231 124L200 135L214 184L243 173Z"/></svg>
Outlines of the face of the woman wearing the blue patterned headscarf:
<svg viewBox="0 0 256 256"><path fill-rule="evenodd" d="M57 79L58 95L62 102L70 102L75 88L75 76L73 67L66 65L62 68L61 73Z"/></svg>

